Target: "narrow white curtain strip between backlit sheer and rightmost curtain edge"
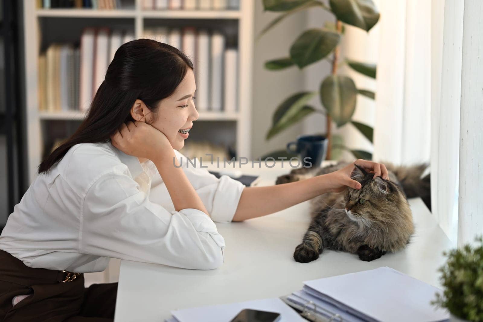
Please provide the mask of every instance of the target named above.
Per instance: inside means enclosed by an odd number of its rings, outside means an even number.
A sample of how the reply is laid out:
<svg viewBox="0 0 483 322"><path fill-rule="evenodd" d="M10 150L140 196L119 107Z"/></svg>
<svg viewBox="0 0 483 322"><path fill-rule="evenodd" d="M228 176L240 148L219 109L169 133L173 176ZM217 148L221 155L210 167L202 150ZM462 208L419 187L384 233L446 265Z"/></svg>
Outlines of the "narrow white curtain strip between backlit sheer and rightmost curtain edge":
<svg viewBox="0 0 483 322"><path fill-rule="evenodd" d="M456 242L463 1L432 2L431 208Z"/></svg>

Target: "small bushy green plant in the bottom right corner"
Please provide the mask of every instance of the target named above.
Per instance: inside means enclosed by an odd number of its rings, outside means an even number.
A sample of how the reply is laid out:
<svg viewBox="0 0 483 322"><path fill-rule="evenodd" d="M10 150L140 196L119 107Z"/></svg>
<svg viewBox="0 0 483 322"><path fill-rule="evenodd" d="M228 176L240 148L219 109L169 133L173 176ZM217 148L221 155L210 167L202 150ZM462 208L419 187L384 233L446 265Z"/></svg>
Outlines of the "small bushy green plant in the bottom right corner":
<svg viewBox="0 0 483 322"><path fill-rule="evenodd" d="M439 269L443 293L432 304L447 308L454 322L483 322L483 237L476 242L443 253L448 257Z"/></svg>

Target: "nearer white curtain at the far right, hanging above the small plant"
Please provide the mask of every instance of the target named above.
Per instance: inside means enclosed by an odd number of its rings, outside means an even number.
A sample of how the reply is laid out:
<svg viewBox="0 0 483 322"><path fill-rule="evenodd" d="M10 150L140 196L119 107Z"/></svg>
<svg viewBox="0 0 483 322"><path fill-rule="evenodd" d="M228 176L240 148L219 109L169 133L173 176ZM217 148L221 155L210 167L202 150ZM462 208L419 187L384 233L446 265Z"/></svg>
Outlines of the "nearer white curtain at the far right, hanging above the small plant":
<svg viewBox="0 0 483 322"><path fill-rule="evenodd" d="M432 2L431 199L458 246L483 233L483 34L480 0Z"/></svg>

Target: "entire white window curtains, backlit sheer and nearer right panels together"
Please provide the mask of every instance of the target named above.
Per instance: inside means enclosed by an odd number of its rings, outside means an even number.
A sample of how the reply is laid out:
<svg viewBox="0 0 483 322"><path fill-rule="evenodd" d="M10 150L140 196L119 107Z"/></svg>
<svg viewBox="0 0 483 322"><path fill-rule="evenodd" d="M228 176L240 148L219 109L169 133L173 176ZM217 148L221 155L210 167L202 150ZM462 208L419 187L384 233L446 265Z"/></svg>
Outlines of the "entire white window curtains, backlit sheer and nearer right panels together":
<svg viewBox="0 0 483 322"><path fill-rule="evenodd" d="M382 1L374 159L431 164L455 245L483 234L483 1Z"/></svg>

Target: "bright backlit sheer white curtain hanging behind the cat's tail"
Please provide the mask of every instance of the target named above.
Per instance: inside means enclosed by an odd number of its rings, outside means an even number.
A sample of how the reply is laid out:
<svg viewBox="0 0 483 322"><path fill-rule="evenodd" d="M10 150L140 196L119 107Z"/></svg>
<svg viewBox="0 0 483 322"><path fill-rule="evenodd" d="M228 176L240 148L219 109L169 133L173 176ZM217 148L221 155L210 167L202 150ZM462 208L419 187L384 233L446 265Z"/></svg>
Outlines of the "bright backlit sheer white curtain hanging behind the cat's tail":
<svg viewBox="0 0 483 322"><path fill-rule="evenodd" d="M374 160L429 162L431 2L381 1Z"/></svg>

